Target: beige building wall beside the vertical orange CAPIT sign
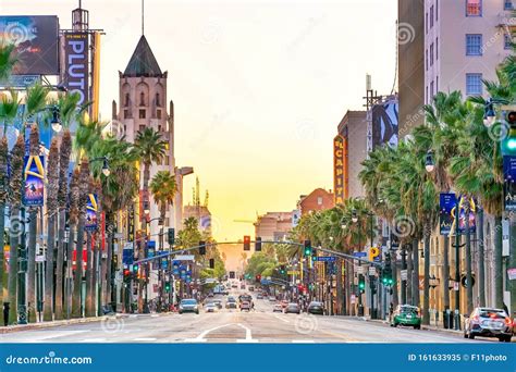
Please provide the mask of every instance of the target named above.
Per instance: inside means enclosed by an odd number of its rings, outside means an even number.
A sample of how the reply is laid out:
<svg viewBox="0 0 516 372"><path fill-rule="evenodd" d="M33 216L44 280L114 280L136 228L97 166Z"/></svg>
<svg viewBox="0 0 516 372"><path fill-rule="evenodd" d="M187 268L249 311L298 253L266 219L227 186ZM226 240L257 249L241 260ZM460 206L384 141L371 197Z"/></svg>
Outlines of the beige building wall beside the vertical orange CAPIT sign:
<svg viewBox="0 0 516 372"><path fill-rule="evenodd" d="M337 127L339 135L344 140L346 147L344 153L344 187L346 198L364 197L364 187L358 173L360 173L360 163L367 157L367 121L366 111L347 111Z"/></svg>

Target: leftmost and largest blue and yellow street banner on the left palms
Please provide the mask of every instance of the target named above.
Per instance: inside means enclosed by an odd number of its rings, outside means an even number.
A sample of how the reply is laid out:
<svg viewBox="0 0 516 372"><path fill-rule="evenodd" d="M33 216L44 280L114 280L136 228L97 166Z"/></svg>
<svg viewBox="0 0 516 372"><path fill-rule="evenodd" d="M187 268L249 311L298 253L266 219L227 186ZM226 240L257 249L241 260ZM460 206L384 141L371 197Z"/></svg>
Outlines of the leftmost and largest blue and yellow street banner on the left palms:
<svg viewBox="0 0 516 372"><path fill-rule="evenodd" d="M45 158L28 156L24 159L24 206L42 207L45 195Z"/></svg>

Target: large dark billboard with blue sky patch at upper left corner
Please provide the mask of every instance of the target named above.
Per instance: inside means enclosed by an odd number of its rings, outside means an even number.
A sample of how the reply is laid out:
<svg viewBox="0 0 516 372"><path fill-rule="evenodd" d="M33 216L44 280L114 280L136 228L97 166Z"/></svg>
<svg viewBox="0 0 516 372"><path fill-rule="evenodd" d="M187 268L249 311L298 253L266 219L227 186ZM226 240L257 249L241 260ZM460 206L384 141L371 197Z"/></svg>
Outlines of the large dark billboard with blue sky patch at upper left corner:
<svg viewBox="0 0 516 372"><path fill-rule="evenodd" d="M16 75L59 74L59 20L56 15L0 16L0 39L15 45Z"/></svg>

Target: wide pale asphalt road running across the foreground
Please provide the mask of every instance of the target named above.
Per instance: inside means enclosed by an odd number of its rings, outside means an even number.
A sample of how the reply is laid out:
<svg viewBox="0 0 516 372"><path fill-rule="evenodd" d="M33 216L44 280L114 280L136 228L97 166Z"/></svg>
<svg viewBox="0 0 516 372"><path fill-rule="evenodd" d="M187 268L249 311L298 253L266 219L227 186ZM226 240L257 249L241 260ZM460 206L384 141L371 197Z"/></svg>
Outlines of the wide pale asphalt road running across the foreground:
<svg viewBox="0 0 516 372"><path fill-rule="evenodd" d="M273 313L267 299L255 303L251 312L134 314L20 331L0 334L0 343L497 343L344 317Z"/></svg>

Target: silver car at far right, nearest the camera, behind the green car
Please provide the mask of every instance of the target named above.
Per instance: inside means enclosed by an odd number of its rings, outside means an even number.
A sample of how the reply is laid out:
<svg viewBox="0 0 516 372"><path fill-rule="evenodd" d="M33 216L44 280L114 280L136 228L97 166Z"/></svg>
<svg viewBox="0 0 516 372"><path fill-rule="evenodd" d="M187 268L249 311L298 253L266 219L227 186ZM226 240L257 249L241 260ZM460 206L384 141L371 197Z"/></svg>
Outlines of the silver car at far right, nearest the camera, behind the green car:
<svg viewBox="0 0 516 372"><path fill-rule="evenodd" d="M496 337L500 342L511 343L513 322L503 309L475 308L464 324L464 337Z"/></svg>

